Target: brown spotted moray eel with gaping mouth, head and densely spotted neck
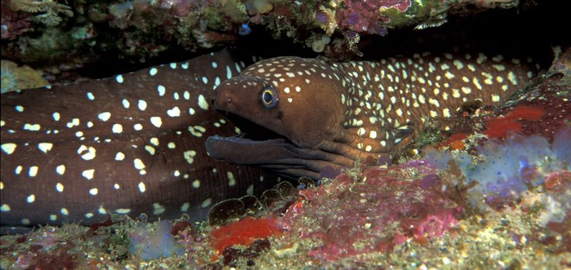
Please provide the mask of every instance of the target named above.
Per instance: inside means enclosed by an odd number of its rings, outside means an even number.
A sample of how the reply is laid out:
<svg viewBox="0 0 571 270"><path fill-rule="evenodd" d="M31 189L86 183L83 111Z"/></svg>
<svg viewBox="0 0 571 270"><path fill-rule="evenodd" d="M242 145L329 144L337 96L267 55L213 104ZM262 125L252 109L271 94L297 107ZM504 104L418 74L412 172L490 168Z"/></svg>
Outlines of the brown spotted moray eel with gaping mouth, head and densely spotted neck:
<svg viewBox="0 0 571 270"><path fill-rule="evenodd" d="M216 88L214 105L245 134L213 136L206 147L225 162L318 178L323 167L390 153L427 116L448 117L468 100L502 102L537 68L531 58L458 52L342 63L270 58Z"/></svg>

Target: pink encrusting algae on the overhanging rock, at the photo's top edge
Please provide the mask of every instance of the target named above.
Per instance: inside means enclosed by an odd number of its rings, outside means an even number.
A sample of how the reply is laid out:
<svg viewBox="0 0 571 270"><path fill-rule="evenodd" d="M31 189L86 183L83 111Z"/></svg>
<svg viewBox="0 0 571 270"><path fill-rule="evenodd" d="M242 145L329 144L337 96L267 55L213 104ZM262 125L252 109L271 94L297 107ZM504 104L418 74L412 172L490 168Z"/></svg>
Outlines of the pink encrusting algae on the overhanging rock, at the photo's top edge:
<svg viewBox="0 0 571 270"><path fill-rule="evenodd" d="M380 26L379 21L388 23L390 19L380 14L380 11L397 9L405 12L411 4L410 0L345 1L340 26L356 32L376 33L383 36L386 29Z"/></svg>

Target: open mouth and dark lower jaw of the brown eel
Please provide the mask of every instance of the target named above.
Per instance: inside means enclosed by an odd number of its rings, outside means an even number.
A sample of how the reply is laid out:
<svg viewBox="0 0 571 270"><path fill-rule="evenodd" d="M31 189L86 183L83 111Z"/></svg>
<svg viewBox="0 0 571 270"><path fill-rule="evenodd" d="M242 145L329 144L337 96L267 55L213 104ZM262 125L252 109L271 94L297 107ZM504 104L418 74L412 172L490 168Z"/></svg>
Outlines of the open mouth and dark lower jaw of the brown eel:
<svg viewBox="0 0 571 270"><path fill-rule="evenodd" d="M251 165L269 170L287 179L310 177L318 179L325 167L348 167L338 154L319 149L298 147L287 137L239 115L218 110L240 128L232 137L214 135L206 140L206 152L216 160Z"/></svg>

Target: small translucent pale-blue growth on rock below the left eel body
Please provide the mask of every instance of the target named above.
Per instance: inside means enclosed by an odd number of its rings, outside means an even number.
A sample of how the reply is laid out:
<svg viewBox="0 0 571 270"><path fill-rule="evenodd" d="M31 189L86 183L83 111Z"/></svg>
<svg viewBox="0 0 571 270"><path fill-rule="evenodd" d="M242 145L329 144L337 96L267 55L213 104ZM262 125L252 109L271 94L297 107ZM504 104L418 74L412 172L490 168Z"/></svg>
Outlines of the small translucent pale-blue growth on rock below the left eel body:
<svg viewBox="0 0 571 270"><path fill-rule="evenodd" d="M167 220L158 222L153 232L148 232L144 224L141 224L129 236L131 237L129 251L143 260L184 253L183 247L173 239L171 224Z"/></svg>

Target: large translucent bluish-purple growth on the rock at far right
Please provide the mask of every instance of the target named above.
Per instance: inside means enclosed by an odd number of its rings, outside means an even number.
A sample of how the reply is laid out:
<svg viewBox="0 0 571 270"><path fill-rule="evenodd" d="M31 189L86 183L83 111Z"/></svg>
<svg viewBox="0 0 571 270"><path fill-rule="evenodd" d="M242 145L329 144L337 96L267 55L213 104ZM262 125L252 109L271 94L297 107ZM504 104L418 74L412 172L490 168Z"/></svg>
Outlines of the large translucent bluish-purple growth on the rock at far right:
<svg viewBox="0 0 571 270"><path fill-rule="evenodd" d="M484 199L493 209L502 209L512 206L528 189L545 185L548 175L569 169L569 148L561 150L555 145L567 144L570 130L560 130L552 145L539 135L525 137L511 133L505 142L485 142L478 147L477 157L434 150L425 151L425 157L445 170L450 162L458 165L468 181L475 183L468 190L468 200L474 206L484 209L481 204Z"/></svg>

